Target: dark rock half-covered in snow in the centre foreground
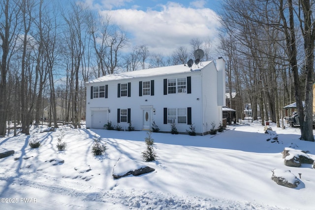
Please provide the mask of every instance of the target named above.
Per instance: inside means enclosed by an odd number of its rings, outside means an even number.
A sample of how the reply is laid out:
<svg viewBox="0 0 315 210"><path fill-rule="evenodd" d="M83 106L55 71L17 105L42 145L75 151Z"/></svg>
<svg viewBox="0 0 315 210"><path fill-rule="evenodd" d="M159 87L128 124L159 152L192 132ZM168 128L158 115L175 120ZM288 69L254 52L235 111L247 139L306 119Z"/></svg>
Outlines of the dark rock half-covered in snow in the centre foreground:
<svg viewBox="0 0 315 210"><path fill-rule="evenodd" d="M113 169L113 177L121 178L127 175L143 175L155 171L155 169L140 164L134 160L121 157L116 162Z"/></svg>

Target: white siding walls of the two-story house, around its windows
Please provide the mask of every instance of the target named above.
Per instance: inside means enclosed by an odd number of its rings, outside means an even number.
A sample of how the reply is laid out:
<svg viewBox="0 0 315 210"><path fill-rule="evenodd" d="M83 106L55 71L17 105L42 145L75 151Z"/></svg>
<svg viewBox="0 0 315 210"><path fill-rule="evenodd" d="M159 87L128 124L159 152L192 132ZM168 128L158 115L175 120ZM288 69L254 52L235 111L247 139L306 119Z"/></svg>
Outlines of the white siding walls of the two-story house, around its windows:
<svg viewBox="0 0 315 210"><path fill-rule="evenodd" d="M187 68L187 67L183 67ZM176 93L164 95L164 79L191 78L191 93ZM130 108L130 120L135 130L143 129L143 110L149 110L151 124L156 122L162 132L171 131L171 123L164 124L164 108L191 107L191 123L196 128L196 133L205 133L210 130L211 122L219 125L221 121L218 109L217 70L213 62L201 70L186 71L182 73L134 77L129 79L89 82L87 86L87 128L95 127L94 111L102 109L107 111L107 120L112 125L117 125L118 108ZM154 80L154 96L139 96L139 81ZM131 97L118 98L118 83L131 82ZM91 86L108 85L108 98L91 99ZM188 87L188 83L186 84ZM152 87L151 87L152 88ZM188 91L188 90L187 90ZM155 111L154 111L155 110ZM188 116L186 118L188 120ZM99 121L99 119L97 119ZM105 121L107 123L107 120ZM97 123L96 123L97 124ZM128 128L128 123L120 122L123 129ZM189 130L187 123L177 123L179 132Z"/></svg>

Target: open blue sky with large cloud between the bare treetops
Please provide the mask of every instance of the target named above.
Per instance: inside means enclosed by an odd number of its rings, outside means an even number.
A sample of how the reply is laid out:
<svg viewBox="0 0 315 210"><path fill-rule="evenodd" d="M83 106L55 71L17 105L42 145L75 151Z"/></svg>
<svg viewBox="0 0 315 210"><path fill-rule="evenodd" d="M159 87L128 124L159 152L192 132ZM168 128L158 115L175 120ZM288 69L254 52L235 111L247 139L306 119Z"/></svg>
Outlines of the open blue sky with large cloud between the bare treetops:
<svg viewBox="0 0 315 210"><path fill-rule="evenodd" d="M132 46L146 45L150 53L170 55L190 40L218 43L222 0L82 0L119 25Z"/></svg>

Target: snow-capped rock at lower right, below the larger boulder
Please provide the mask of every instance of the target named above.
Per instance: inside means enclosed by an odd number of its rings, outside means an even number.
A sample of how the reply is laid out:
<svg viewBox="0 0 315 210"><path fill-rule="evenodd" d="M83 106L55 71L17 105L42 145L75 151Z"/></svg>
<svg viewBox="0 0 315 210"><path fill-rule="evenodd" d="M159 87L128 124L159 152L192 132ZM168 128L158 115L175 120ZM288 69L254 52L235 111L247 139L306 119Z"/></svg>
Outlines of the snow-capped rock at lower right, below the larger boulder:
<svg viewBox="0 0 315 210"><path fill-rule="evenodd" d="M299 179L290 170L274 169L271 179L285 187L295 188L300 183Z"/></svg>

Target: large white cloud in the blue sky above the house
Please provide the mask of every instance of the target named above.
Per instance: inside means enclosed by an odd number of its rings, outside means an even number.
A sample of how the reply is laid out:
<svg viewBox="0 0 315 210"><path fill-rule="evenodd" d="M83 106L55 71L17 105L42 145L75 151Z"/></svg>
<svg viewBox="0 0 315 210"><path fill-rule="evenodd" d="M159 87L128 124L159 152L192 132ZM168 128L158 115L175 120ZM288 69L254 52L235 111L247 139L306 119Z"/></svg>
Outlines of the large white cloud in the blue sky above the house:
<svg viewBox="0 0 315 210"><path fill-rule="evenodd" d="M131 35L133 45L145 44L152 53L169 55L179 46L189 49L192 38L215 39L218 35L219 17L209 8L187 8L174 2L160 8L103 10L101 14L110 14Z"/></svg>

